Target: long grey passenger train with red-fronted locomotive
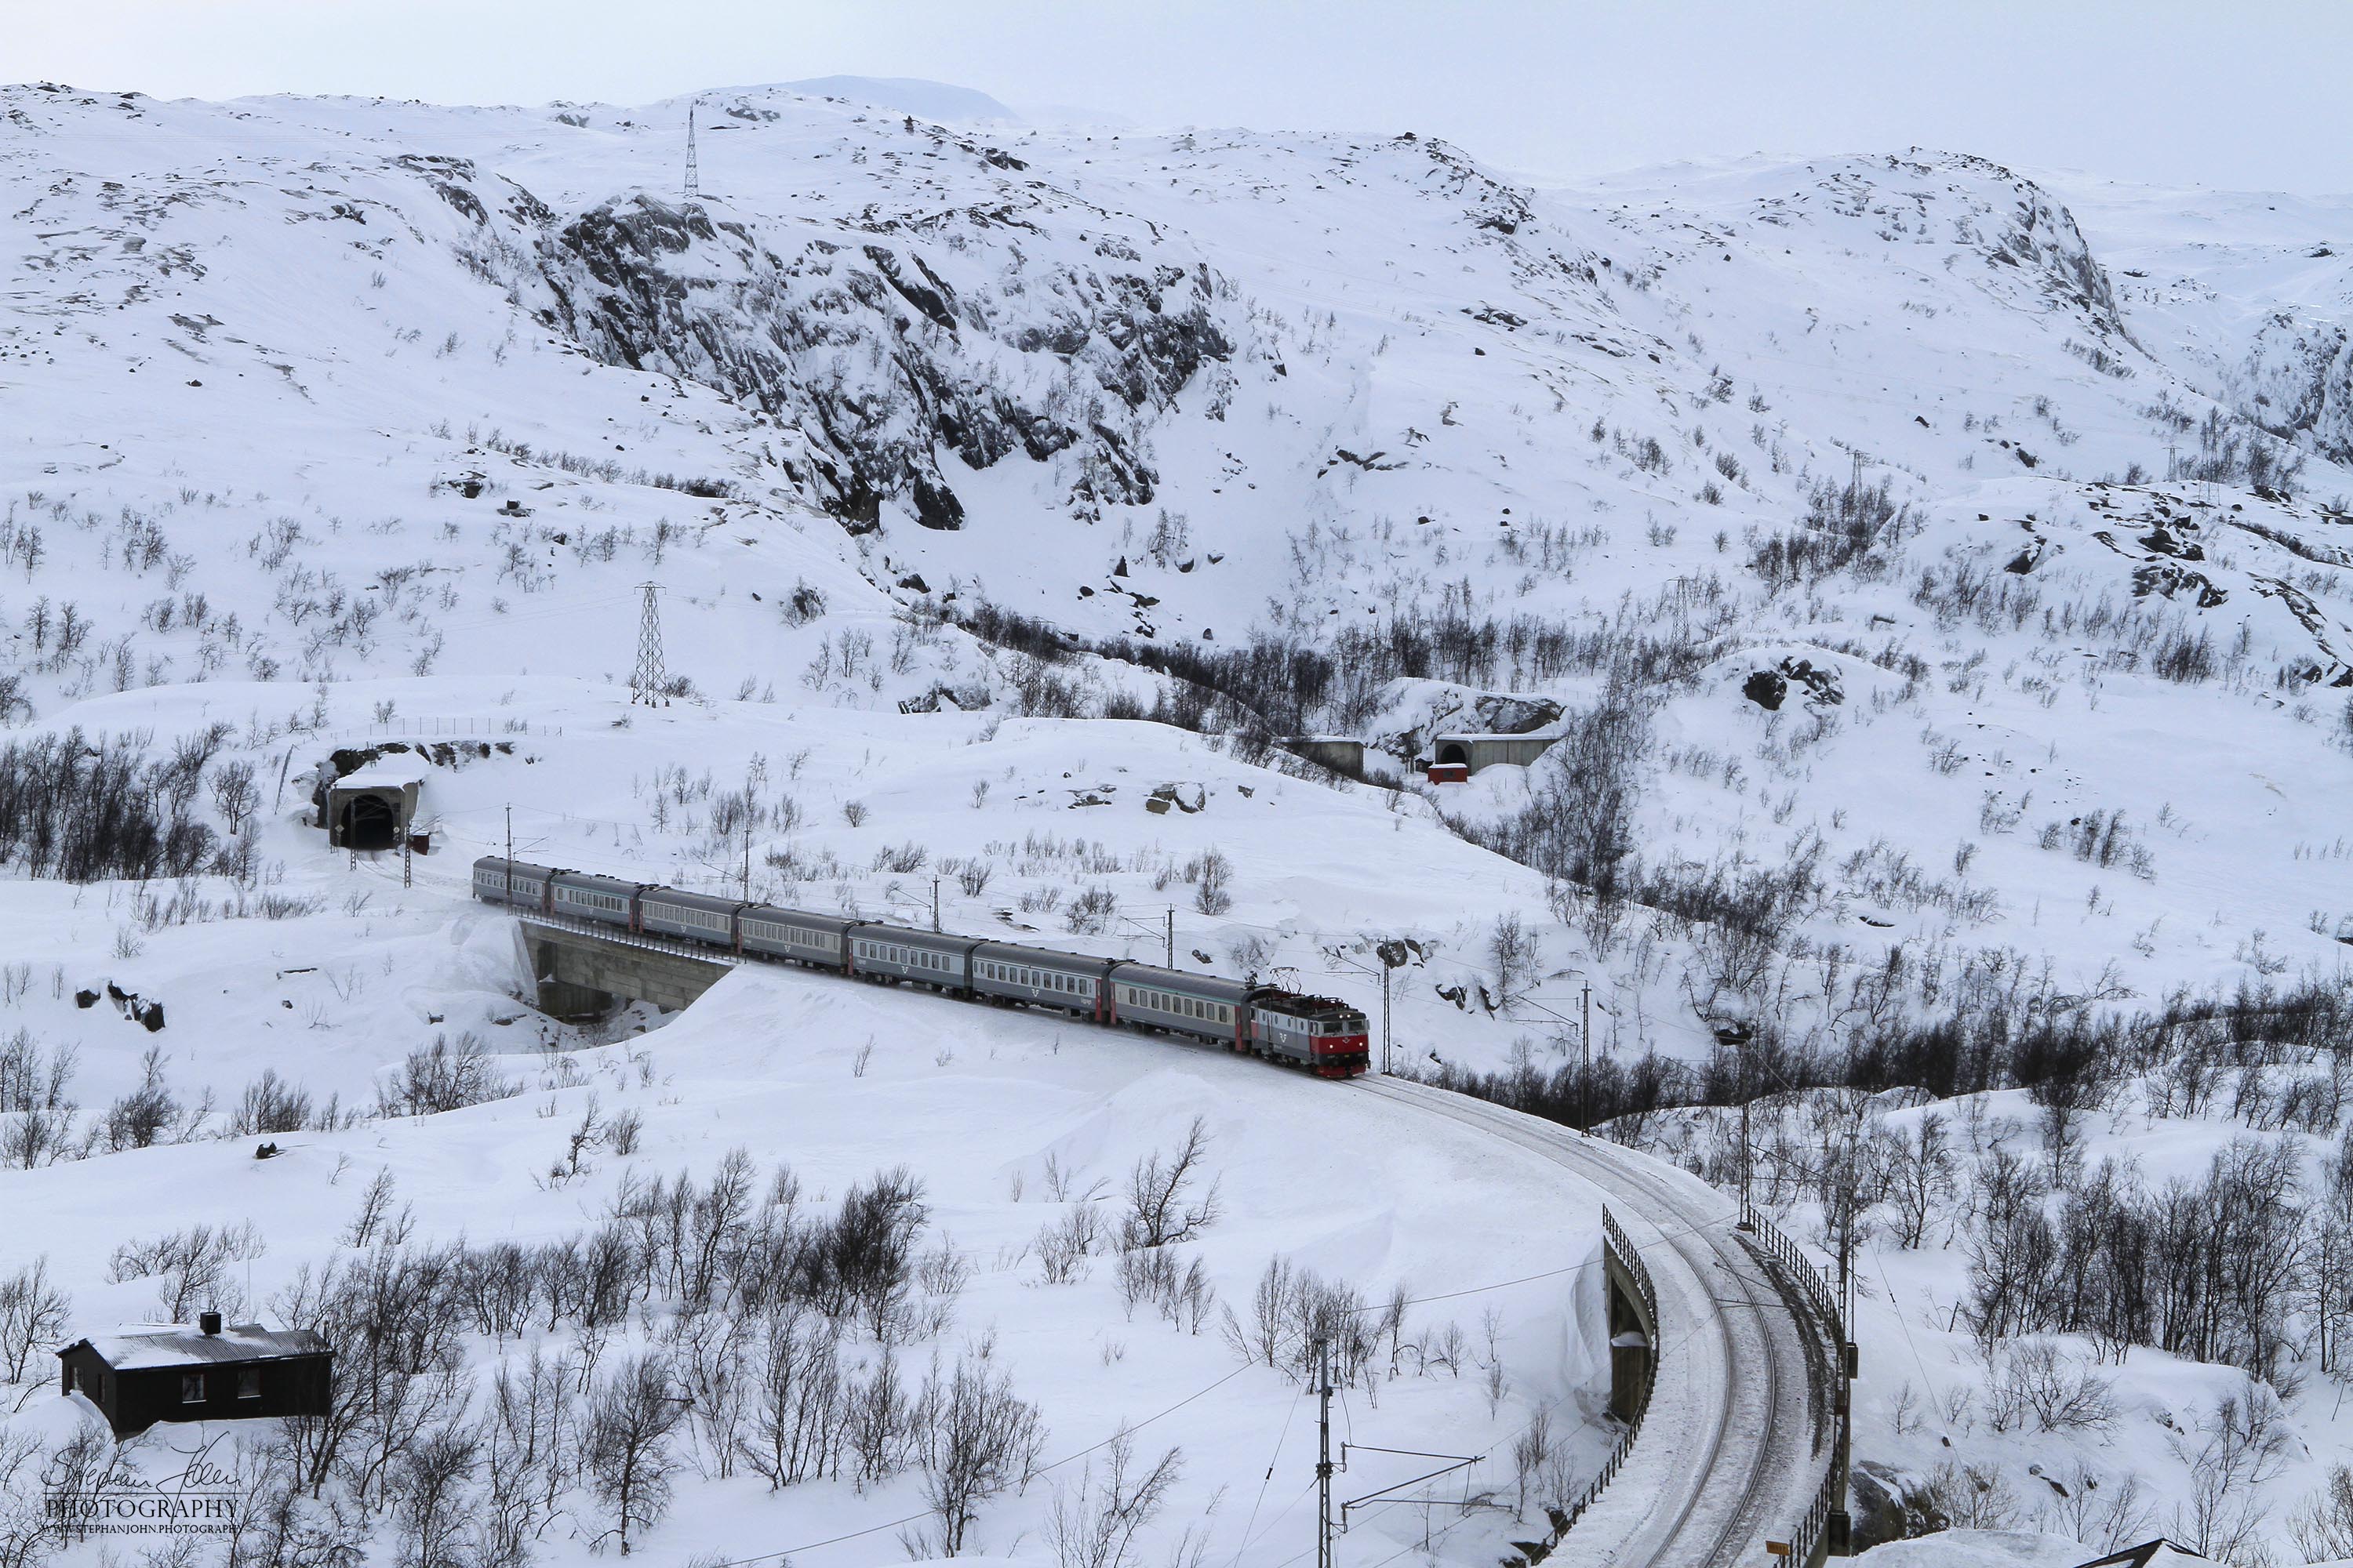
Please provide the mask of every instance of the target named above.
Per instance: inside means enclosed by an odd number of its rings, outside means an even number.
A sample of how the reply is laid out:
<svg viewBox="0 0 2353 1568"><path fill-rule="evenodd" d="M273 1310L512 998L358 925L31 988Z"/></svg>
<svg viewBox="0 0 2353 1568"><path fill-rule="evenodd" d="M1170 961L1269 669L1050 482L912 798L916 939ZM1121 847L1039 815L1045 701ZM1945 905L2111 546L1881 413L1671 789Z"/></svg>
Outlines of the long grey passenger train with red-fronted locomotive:
<svg viewBox="0 0 2353 1568"><path fill-rule="evenodd" d="M922 985L962 1001L1033 1006L1104 1027L1200 1039L1327 1079L1372 1065L1365 1013L1332 997L1195 976L1160 964L951 936L840 914L532 865L473 863L473 896L534 914L668 936L878 985Z"/></svg>

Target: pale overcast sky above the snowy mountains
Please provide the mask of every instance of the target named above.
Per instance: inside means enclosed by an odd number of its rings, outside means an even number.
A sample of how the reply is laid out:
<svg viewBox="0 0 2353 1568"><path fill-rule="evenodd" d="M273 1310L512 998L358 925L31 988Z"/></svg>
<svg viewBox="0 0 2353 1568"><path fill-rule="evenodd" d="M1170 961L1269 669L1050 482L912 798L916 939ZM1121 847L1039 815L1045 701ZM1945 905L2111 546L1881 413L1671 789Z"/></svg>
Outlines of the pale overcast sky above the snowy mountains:
<svg viewBox="0 0 2353 1568"><path fill-rule="evenodd" d="M0 0L0 80L162 96L635 103L833 73L1417 129L1529 174L1934 146L2353 190L2346 0Z"/></svg>

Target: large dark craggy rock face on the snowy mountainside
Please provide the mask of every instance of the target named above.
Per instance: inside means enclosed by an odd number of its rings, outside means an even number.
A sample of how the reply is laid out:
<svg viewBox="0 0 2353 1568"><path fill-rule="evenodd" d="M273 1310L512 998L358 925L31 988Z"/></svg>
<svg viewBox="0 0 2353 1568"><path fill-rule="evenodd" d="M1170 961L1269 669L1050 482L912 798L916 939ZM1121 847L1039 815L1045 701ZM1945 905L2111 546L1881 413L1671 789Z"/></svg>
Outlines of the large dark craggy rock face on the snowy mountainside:
<svg viewBox="0 0 2353 1568"><path fill-rule="evenodd" d="M1228 360L1217 280L1101 237L1092 266L1038 261L1033 221L936 214L878 221L859 242L753 230L701 205L605 202L536 242L544 320L593 355L718 386L795 425L784 465L852 529L885 501L958 529L953 458L1059 463L1068 505L1155 494L1155 414ZM951 275L986 273L960 289Z"/></svg>

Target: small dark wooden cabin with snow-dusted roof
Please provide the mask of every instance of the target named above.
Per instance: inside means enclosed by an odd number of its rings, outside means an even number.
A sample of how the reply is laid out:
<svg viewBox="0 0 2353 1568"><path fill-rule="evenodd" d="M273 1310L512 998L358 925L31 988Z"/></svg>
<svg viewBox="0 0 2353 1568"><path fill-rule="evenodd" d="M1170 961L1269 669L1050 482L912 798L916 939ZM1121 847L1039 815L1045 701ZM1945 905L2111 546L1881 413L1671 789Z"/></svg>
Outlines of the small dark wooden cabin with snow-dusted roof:
<svg viewBox="0 0 2353 1568"><path fill-rule="evenodd" d="M56 1352L64 1394L94 1403L115 1436L165 1420L325 1415L334 1396L334 1349L308 1328L221 1326L122 1328Z"/></svg>

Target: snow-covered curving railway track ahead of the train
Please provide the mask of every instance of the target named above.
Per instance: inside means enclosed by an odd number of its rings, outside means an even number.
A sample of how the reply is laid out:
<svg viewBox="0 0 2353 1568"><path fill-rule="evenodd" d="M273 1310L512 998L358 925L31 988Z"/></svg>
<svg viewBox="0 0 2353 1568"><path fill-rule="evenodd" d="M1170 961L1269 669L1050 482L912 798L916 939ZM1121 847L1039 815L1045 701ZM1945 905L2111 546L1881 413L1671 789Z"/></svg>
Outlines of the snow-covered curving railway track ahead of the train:
<svg viewBox="0 0 2353 1568"><path fill-rule="evenodd" d="M1398 1079L1360 1093L1414 1105L1513 1143L1609 1192L1659 1286L1659 1371L1649 1415L1619 1479L1577 1521L1553 1563L1734 1568L1774 1563L1828 1462L1828 1422L1800 1319L1737 1206L1671 1166L1499 1105ZM1614 1208L1617 1208L1614 1204Z"/></svg>

